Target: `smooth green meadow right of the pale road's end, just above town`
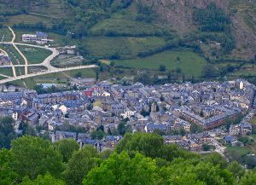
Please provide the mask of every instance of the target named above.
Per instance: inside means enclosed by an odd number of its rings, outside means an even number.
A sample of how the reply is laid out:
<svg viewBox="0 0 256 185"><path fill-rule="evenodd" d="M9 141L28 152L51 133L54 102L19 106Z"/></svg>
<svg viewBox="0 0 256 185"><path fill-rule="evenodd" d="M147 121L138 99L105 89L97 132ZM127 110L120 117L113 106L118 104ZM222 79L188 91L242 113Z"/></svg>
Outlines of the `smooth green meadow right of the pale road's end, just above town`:
<svg viewBox="0 0 256 185"><path fill-rule="evenodd" d="M179 57L179 61L177 61L177 57ZM189 50L168 50L145 58L119 60L115 63L117 66L128 66L137 69L158 70L160 65L165 65L168 70L175 70L179 67L188 77L201 76L203 66L206 65L203 57Z"/></svg>

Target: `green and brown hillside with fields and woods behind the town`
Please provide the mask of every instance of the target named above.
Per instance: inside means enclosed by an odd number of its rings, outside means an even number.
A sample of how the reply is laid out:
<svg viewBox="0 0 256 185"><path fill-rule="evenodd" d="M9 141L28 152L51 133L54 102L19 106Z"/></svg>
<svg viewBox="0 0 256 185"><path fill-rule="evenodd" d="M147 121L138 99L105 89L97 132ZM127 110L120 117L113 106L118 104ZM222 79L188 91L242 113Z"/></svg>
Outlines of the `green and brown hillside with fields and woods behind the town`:
<svg viewBox="0 0 256 185"><path fill-rule="evenodd" d="M19 37L49 32L55 45L76 44L88 61L154 71L165 65L188 78L205 78L207 65L212 77L255 76L255 17L250 0L0 0L1 24Z"/></svg>

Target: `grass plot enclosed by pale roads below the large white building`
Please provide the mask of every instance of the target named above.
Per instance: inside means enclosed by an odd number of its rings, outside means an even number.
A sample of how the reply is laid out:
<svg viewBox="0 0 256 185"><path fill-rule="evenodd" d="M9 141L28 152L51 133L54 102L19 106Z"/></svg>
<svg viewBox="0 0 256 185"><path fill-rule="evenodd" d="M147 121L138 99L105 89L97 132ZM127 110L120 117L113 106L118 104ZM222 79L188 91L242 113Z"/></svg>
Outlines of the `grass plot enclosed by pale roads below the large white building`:
<svg viewBox="0 0 256 185"><path fill-rule="evenodd" d="M18 46L23 55L26 56L28 64L42 63L52 52L49 49L39 49L27 46Z"/></svg>

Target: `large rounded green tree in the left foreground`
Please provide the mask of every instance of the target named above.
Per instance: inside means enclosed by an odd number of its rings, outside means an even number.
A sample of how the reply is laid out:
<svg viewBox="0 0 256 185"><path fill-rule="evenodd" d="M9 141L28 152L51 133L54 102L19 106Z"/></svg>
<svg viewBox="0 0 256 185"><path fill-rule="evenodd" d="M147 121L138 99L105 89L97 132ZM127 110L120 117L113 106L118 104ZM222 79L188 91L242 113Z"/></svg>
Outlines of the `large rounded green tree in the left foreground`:
<svg viewBox="0 0 256 185"><path fill-rule="evenodd" d="M11 146L14 156L13 169L20 177L29 176L34 179L46 172L55 177L61 176L61 153L56 151L49 141L40 137L22 136L14 140Z"/></svg>

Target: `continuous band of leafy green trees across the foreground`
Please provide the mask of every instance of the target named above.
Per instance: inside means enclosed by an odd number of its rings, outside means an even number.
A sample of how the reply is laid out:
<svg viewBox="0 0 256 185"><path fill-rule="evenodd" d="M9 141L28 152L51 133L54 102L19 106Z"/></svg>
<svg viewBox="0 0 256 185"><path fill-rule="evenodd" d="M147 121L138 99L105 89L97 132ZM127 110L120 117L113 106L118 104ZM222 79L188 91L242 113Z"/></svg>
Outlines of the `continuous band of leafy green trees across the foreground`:
<svg viewBox="0 0 256 185"><path fill-rule="evenodd" d="M126 134L114 151L96 149L73 140L51 144L22 136L11 149L0 151L0 184L216 184L256 183L255 171L245 171L212 153L202 157L165 145L161 136Z"/></svg>

